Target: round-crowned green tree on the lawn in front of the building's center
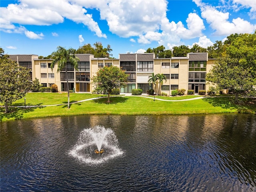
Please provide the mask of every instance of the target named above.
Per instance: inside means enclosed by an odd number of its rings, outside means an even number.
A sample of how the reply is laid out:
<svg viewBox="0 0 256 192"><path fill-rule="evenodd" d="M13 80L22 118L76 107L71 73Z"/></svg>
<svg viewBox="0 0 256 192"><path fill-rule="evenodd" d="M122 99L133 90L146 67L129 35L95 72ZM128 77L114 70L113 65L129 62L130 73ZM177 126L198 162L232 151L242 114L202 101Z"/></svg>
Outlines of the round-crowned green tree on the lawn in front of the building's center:
<svg viewBox="0 0 256 192"><path fill-rule="evenodd" d="M96 90L108 93L108 103L110 103L112 89L126 87L127 78L128 74L117 66L105 66L100 68L97 76L93 76L91 79Z"/></svg>

